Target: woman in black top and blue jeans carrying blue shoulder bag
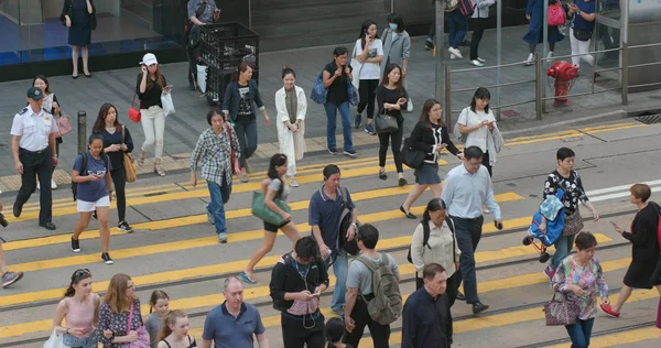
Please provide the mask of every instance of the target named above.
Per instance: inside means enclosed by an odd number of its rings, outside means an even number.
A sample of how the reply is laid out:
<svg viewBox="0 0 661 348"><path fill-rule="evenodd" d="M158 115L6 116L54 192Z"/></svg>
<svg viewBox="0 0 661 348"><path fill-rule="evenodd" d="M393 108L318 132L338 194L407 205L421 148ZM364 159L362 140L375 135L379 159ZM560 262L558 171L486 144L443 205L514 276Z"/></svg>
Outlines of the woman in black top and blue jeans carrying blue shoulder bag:
<svg viewBox="0 0 661 348"><path fill-rule="evenodd" d="M336 47L333 51L333 62L326 64L323 72L324 88L328 89L326 97L326 142L328 143L328 152L337 154L337 145L335 143L335 119L337 110L342 116L342 128L344 134L344 154L356 156L354 143L351 142L351 119L349 117L349 86L354 79L351 75L353 67L347 64L348 51L346 47Z"/></svg>

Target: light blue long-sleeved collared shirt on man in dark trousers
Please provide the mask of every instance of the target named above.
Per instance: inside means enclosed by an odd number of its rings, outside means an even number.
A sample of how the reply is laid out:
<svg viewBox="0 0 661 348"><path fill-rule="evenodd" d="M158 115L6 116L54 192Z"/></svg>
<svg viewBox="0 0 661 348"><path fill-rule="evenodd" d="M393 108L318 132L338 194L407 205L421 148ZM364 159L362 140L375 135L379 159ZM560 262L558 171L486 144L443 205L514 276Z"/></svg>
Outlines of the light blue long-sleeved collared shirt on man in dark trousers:
<svg viewBox="0 0 661 348"><path fill-rule="evenodd" d="M441 198L447 205L447 213L451 216L464 219L478 218L483 215L484 204L494 211L497 220L501 219L500 206L494 198L491 177L484 165L480 165L475 174L466 171L464 164L449 171L445 176Z"/></svg>

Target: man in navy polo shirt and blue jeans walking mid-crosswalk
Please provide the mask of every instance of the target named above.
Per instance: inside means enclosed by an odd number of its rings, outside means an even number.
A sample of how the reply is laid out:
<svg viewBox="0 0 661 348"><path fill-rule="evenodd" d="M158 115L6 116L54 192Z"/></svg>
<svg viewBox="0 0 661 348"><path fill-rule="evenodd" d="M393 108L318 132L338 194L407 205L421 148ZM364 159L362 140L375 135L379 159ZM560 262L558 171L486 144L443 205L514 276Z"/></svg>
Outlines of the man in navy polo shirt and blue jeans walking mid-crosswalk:
<svg viewBox="0 0 661 348"><path fill-rule="evenodd" d="M347 230L347 241L350 241L356 237L358 213L349 192L346 187L339 186L339 178L340 173L337 165L328 164L324 167L324 185L310 198L307 222L312 227L312 235L319 244L322 257L324 260L333 262L336 282L330 307L335 314L344 317L348 259L347 252L338 246L339 219L344 206L348 205L351 208L351 226Z"/></svg>

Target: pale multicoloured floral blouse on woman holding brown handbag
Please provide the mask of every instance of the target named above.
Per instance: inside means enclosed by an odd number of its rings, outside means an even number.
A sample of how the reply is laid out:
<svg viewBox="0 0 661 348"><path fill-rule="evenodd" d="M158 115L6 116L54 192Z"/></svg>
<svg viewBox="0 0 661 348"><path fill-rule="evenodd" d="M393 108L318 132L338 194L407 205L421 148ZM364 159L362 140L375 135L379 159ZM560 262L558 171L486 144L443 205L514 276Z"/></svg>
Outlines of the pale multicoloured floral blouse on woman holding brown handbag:
<svg viewBox="0 0 661 348"><path fill-rule="evenodd" d="M581 320L594 318L597 314L597 291L599 297L608 297L608 284L606 284L604 271L597 258L593 258L585 267L574 261L574 257L564 258L555 271L551 285L553 290L567 294L570 300L578 303ZM577 296L570 290L570 285L578 285L585 294Z"/></svg>

